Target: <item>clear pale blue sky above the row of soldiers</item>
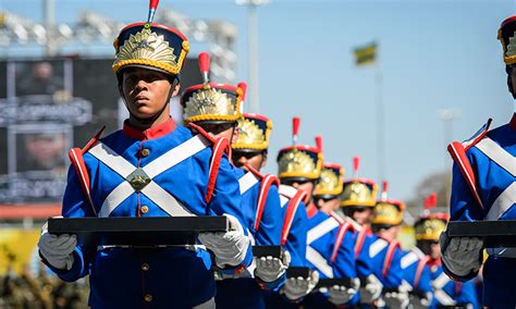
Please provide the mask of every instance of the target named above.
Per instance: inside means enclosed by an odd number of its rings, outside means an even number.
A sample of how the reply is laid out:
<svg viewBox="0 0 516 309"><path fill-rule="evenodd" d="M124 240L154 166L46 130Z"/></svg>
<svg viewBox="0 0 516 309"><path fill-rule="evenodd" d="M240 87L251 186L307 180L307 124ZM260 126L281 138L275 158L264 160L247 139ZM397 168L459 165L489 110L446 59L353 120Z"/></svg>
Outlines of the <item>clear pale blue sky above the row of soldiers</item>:
<svg viewBox="0 0 516 309"><path fill-rule="evenodd" d="M94 10L132 23L146 18L147 7L146 0L56 0L56 18L74 23L81 11ZM244 7L231 0L161 0L160 7L236 25L238 79L247 79ZM0 10L37 21L40 8L39 0L0 0ZM489 118L493 127L511 119L514 100L496 34L513 14L516 2L508 0L271 0L258 8L259 106L274 126L265 172L277 172L278 151L292 144L291 119L299 116L299 144L314 145L320 134L325 161L343 164L345 178L358 156L359 175L381 183L381 94L384 178L391 198L411 198L423 177L451 168L450 139L469 138ZM377 65L357 67L353 49L371 41L379 46ZM456 113L449 133L439 118L443 109Z"/></svg>

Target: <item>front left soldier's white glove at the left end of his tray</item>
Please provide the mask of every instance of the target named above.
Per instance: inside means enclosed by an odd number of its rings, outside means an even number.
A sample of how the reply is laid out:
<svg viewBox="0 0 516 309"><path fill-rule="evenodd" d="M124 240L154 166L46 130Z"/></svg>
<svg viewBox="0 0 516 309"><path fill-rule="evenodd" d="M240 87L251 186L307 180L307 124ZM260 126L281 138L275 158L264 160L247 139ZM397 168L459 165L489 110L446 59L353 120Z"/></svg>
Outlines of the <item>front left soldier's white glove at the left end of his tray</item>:
<svg viewBox="0 0 516 309"><path fill-rule="evenodd" d="M75 246L77 246L77 237L75 235L50 235L47 230L47 223L41 227L38 248L41 256L52 267L60 270L71 270L74 261L72 252Z"/></svg>

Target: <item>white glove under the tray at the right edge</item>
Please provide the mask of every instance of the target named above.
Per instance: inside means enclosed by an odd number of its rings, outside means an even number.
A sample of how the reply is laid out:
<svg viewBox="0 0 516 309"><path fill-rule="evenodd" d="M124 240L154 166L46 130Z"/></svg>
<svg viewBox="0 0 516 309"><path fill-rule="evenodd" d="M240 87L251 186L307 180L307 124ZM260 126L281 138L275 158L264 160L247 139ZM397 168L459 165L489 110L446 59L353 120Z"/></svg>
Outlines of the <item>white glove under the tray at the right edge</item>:
<svg viewBox="0 0 516 309"><path fill-rule="evenodd" d="M480 251L483 239L478 237L453 237L446 232L440 236L442 260L447 269L457 276L477 273L481 265Z"/></svg>

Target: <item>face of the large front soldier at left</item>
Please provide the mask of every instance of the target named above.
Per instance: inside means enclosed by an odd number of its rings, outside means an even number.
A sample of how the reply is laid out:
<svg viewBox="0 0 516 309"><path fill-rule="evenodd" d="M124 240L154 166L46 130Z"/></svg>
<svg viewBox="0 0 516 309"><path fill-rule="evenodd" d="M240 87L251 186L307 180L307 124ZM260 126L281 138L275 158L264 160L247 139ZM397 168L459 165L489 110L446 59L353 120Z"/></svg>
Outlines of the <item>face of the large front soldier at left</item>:
<svg viewBox="0 0 516 309"><path fill-rule="evenodd" d="M123 72L122 90L127 109L142 119L150 118L163 108L171 87L167 74L158 71L130 67ZM179 87L174 89L174 96L177 90Z"/></svg>

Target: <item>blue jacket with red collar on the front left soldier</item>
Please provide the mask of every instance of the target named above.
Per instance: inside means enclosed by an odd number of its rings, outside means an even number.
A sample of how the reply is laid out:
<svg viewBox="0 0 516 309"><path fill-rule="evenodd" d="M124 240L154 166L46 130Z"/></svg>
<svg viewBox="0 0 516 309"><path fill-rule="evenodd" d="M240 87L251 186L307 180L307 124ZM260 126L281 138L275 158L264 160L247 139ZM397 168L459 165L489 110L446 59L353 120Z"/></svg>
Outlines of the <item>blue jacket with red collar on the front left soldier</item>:
<svg viewBox="0 0 516 309"><path fill-rule="evenodd" d="M101 141L134 166L144 168L167 151L192 138L191 131L175 126L172 120L146 132L124 125ZM146 151L143 151L147 149ZM205 201L211 158L210 146L167 169L152 183L175 198L192 215L221 215L230 213L243 223L241 196L234 168L224 157L209 206ZM114 157L116 157L114 156ZM70 169L63 197L62 215L65 218L95 217L168 217L164 209L143 193L131 191L120 201L111 195L125 180L99 161L89 151L84 162L90 178L93 207L81 189L74 169ZM128 166L131 166L128 165ZM167 194L164 194L168 196ZM110 196L111 203L105 203ZM152 198L163 195L152 195ZM170 198L170 196L168 196ZM113 201L119 200L119 205ZM105 205L103 205L105 203ZM102 208L103 205L103 208ZM158 206L159 205L159 206ZM108 207L108 210L106 210ZM147 305L168 308L192 308L214 296L214 280L209 255L204 249L167 248L105 248L78 245L71 270L48 265L64 281L75 281L89 274L91 308L142 308ZM243 265L251 261L250 247Z"/></svg>

